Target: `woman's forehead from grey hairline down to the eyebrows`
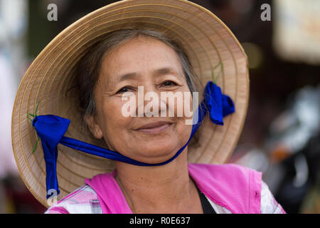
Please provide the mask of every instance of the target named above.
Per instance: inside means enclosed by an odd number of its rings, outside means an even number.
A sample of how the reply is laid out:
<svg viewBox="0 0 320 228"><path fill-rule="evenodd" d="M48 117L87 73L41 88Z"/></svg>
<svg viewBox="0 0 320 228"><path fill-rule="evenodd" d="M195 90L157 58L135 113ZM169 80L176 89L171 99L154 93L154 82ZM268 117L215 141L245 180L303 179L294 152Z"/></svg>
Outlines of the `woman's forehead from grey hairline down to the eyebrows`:
<svg viewBox="0 0 320 228"><path fill-rule="evenodd" d="M134 38L108 53L102 60L101 74L124 81L142 73L159 76L182 73L180 58L173 48L154 38Z"/></svg>

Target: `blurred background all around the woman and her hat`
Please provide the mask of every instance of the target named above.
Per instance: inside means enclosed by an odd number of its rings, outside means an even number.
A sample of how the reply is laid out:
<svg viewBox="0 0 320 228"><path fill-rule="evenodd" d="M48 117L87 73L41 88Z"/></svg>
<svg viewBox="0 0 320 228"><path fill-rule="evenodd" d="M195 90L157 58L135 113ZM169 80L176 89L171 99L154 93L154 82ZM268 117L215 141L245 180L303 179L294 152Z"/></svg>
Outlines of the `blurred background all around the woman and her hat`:
<svg viewBox="0 0 320 228"><path fill-rule="evenodd" d="M11 147L18 84L38 53L80 17L114 1L0 0L0 213L43 213ZM250 64L250 103L229 162L263 173L288 213L320 212L320 1L194 0L217 15ZM58 21L48 21L49 4ZM270 7L269 7L270 6Z"/></svg>

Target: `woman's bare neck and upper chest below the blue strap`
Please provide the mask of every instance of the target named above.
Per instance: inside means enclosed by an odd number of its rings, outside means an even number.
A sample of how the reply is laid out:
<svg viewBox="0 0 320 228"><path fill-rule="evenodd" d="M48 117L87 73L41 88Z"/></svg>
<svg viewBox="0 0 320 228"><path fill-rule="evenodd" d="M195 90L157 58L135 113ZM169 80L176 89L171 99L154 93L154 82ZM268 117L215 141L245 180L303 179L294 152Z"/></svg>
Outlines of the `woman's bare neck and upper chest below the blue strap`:
<svg viewBox="0 0 320 228"><path fill-rule="evenodd" d="M144 167L116 162L116 180L134 213L201 213L188 175L186 152L166 165Z"/></svg>

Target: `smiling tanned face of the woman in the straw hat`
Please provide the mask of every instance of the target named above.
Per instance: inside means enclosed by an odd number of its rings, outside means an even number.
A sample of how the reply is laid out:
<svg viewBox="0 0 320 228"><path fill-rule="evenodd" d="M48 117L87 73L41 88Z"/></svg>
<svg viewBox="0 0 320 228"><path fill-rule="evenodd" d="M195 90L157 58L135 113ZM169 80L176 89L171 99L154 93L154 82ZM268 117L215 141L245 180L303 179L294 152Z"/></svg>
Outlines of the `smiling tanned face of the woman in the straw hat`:
<svg viewBox="0 0 320 228"><path fill-rule="evenodd" d="M142 87L139 87L139 98L138 86L143 86L142 96ZM148 92L154 92L159 100L146 100L144 95ZM182 95L190 92L180 58L173 48L154 38L142 36L127 41L102 60L95 88L97 114L86 119L90 130L95 138L103 137L110 150L134 160L148 163L168 160L186 144L192 125L186 125L185 115L177 116L183 106L177 102L170 105L169 99L164 105L161 92ZM126 110L136 117L124 115L123 106L129 99L135 100L135 105ZM141 102L141 99L144 100ZM183 96L183 102L191 104L191 96L184 99ZM139 110L144 110L141 107L146 108L148 104L151 111L156 109L150 107L158 107L159 117L147 117L146 113L138 116ZM174 117L169 117L169 110L174 111ZM166 115L161 117L161 112Z"/></svg>

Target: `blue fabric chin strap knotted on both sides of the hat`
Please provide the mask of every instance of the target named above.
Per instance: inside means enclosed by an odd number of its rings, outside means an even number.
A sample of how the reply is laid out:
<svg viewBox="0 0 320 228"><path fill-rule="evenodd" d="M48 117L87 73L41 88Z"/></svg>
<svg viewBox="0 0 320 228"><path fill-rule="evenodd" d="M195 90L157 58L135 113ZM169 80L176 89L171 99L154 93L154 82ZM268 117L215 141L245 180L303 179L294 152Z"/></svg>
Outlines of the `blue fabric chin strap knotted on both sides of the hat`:
<svg viewBox="0 0 320 228"><path fill-rule="evenodd" d="M204 90L204 99L198 107L198 122L193 124L191 136L174 157L171 157L165 162L157 164L149 164L144 162L139 162L133 160L129 157L121 155L119 152L107 150L102 147L97 147L95 145L89 144L87 142L82 142L74 138L68 138L65 132L68 130L70 120L61 118L58 115L38 115L32 121L32 125L36 128L36 133L38 137L41 138L41 144L43 147L44 160L46 162L46 188L47 188L47 199L53 195L49 194L54 189L58 194L60 193L58 187L58 179L56 173L56 163L58 157L57 145L60 143L67 147L71 147L75 150L80 150L82 152L89 153L91 155L97 155L99 157L105 157L111 160L117 160L119 162L126 162L132 165L140 166L156 166L165 165L172 160L174 160L184 148L188 145L193 135L198 130L201 125L203 118L209 113L210 120L217 124L223 125L223 117L235 112L235 107L233 100L231 100L228 95L221 93L219 86L215 85L212 81L209 81ZM49 191L51 190L51 191Z"/></svg>

